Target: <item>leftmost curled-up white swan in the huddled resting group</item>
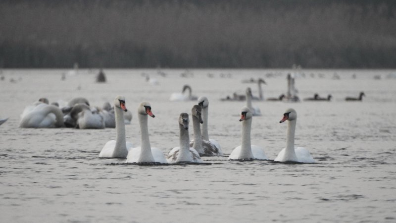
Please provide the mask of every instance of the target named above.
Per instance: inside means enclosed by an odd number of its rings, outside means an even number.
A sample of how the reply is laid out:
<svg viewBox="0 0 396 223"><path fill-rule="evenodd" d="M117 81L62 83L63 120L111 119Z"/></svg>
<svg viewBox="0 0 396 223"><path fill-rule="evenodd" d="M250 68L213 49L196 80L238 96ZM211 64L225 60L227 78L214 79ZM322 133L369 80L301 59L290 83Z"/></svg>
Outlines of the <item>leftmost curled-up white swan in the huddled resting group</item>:
<svg viewBox="0 0 396 223"><path fill-rule="evenodd" d="M53 105L41 103L21 115L21 128L54 128L63 127L63 113Z"/></svg>

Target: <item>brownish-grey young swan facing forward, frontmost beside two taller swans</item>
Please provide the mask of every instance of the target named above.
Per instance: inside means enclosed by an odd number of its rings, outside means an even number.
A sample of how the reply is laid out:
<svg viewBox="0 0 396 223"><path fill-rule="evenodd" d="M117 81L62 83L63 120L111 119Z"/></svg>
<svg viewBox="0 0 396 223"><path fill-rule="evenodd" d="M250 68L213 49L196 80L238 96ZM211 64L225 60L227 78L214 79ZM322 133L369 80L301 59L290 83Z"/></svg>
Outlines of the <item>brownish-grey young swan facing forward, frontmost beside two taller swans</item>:
<svg viewBox="0 0 396 223"><path fill-rule="evenodd" d="M190 162L202 163L197 150L190 147L189 114L181 113L179 116L179 146L173 148L168 156L168 163Z"/></svg>

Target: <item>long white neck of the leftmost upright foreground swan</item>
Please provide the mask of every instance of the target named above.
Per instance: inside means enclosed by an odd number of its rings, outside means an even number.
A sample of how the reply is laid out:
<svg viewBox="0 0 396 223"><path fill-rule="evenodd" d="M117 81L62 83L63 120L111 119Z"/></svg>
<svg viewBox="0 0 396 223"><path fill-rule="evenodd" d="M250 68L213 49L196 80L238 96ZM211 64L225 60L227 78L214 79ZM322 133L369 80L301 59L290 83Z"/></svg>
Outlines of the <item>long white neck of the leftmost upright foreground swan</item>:
<svg viewBox="0 0 396 223"><path fill-rule="evenodd" d="M115 148L113 151L113 157L126 157L128 150L126 147L125 139L125 122L124 122L124 111L118 107L114 107L115 112L115 131L117 138L115 139Z"/></svg>

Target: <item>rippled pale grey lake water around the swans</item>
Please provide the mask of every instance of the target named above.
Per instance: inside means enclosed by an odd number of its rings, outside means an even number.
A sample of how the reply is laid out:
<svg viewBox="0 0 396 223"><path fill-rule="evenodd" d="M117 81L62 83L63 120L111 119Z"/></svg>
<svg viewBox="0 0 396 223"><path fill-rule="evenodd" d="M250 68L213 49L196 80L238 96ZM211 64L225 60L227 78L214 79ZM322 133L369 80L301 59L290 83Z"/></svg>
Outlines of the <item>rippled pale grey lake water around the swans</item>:
<svg viewBox="0 0 396 223"><path fill-rule="evenodd" d="M203 69L182 78L184 70L165 69L167 77L154 69L104 71L105 84L95 83L96 70L80 70L64 81L67 70L2 71L0 118L9 119L0 126L1 222L396 221L396 79L385 78L395 70L304 70L306 77L296 80L300 98L332 94L331 102L253 101L263 116L253 117L252 143L275 159L286 144L287 125L279 120L292 107L298 114L296 144L307 148L316 164L204 157L209 165L124 165L121 159L98 158L103 145L115 139L115 129L18 127L25 106L41 97L53 102L83 96L101 107L124 95L134 112L127 140L140 143L136 109L148 101L155 114L148 121L151 146L166 153L178 146L179 114L191 113L195 104L168 98L190 84L193 94L208 97L209 136L229 154L241 144L239 112L245 103L219 99L243 94L247 86L257 96L256 85L241 80L259 76L267 82L264 97L277 97L285 93L291 72ZM143 72L159 85L146 83ZM332 79L334 73L341 79ZM362 102L344 101L360 91L366 94Z"/></svg>

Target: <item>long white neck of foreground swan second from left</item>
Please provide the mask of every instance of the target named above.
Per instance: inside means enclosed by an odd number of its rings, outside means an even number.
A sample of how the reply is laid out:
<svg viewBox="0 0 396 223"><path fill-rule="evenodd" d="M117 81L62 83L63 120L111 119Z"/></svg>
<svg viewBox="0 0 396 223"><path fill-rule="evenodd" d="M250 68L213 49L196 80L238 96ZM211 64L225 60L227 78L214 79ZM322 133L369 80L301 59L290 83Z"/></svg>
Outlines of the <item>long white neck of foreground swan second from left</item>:
<svg viewBox="0 0 396 223"><path fill-rule="evenodd" d="M150 139L148 137L147 114L138 114L141 132L141 150L138 163L155 162L151 153Z"/></svg>

